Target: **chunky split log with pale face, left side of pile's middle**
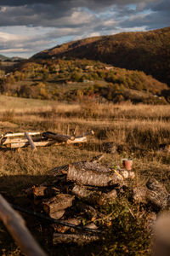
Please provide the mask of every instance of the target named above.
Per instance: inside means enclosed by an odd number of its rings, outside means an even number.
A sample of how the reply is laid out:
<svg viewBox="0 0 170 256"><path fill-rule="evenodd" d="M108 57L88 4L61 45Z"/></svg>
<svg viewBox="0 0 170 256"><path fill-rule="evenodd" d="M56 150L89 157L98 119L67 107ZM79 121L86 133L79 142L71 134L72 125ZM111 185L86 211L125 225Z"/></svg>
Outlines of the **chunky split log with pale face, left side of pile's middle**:
<svg viewBox="0 0 170 256"><path fill-rule="evenodd" d="M54 212L62 211L67 207L71 207L73 200L73 195L59 194L49 200L42 201L43 210L52 217Z"/></svg>

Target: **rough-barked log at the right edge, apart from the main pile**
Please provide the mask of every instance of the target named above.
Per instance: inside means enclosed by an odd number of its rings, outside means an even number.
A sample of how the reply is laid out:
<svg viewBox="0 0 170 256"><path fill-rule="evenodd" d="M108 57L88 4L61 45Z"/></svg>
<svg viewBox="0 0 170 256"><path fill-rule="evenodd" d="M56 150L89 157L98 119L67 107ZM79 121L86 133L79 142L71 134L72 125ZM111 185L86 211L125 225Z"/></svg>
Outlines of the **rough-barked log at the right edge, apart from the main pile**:
<svg viewBox="0 0 170 256"><path fill-rule="evenodd" d="M157 208L167 207L169 194L163 184L159 183L155 178L150 178L146 183L146 197L150 203Z"/></svg>

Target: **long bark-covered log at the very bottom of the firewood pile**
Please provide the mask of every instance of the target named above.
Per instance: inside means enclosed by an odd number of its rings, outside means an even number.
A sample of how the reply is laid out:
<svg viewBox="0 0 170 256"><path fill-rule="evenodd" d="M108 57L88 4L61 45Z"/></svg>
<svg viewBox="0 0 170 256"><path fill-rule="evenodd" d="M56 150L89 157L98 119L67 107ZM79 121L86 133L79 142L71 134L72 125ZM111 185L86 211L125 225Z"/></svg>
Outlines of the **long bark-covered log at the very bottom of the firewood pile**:
<svg viewBox="0 0 170 256"><path fill-rule="evenodd" d="M59 234L54 233L53 244L59 243L77 243L87 244L92 241L98 241L99 236L89 236L87 234Z"/></svg>

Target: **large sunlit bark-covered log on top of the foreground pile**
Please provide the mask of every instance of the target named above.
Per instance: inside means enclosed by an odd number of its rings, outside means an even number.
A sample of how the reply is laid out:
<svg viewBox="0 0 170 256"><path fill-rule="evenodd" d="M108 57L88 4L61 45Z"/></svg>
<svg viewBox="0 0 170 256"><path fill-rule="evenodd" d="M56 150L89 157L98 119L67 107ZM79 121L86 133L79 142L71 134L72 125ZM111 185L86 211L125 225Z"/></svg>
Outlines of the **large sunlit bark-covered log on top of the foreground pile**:
<svg viewBox="0 0 170 256"><path fill-rule="evenodd" d="M96 169L94 169L92 164L96 165ZM115 172L108 172L108 168L105 168L105 166L86 162L86 165L84 165L84 163L70 165L67 172L67 180L84 185L105 187L120 184L123 178Z"/></svg>

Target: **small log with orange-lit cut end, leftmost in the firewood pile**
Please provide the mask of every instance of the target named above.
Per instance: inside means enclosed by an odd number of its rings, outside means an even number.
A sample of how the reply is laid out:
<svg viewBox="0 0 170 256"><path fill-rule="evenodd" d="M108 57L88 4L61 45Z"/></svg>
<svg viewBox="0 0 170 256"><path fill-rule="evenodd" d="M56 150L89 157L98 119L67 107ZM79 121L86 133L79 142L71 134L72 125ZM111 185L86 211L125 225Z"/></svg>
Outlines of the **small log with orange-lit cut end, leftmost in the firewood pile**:
<svg viewBox="0 0 170 256"><path fill-rule="evenodd" d="M59 192L59 189L46 187L46 186L33 186L33 194L36 196L53 196Z"/></svg>

